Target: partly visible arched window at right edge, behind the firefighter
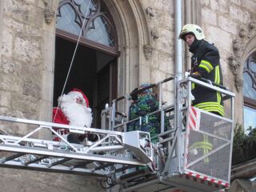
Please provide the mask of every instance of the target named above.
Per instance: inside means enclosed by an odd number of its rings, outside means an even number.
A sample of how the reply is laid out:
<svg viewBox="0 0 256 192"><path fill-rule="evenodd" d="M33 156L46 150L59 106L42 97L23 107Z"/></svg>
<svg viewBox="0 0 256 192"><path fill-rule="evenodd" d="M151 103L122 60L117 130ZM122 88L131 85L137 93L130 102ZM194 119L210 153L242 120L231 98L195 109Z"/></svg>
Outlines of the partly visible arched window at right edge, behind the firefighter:
<svg viewBox="0 0 256 192"><path fill-rule="evenodd" d="M256 127L256 52L250 54L243 68L244 128Z"/></svg>

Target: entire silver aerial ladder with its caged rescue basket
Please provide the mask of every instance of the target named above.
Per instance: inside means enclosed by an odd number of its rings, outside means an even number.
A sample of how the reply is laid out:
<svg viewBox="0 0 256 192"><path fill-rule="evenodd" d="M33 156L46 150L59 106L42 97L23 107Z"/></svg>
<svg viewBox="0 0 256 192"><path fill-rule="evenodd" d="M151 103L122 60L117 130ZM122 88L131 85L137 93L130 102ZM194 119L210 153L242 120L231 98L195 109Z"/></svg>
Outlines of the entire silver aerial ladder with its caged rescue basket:
<svg viewBox="0 0 256 192"><path fill-rule="evenodd" d="M224 117L191 106L192 84L222 94ZM173 87L173 96L166 90ZM213 192L230 186L234 130L234 94L206 79L170 77L146 86L157 90L159 134L127 131L131 122L129 94L116 98L102 110L100 129L0 116L5 130L22 130L18 135L0 134L0 166L24 170L84 174L102 178L102 187L114 191ZM56 130L58 128L58 130ZM94 134L81 144L70 143L73 134ZM38 138L50 131L59 141Z"/></svg>

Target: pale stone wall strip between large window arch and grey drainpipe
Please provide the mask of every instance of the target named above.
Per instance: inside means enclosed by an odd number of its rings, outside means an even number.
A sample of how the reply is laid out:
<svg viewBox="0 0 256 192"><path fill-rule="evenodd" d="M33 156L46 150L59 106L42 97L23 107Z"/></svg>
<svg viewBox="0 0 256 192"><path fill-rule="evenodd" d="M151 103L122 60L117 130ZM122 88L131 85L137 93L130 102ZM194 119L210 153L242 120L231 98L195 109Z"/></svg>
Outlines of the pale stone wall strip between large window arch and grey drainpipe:
<svg viewBox="0 0 256 192"><path fill-rule="evenodd" d="M140 82L159 82L174 76L174 1L142 0L152 53L141 63ZM174 103L174 82L163 84L163 101Z"/></svg>

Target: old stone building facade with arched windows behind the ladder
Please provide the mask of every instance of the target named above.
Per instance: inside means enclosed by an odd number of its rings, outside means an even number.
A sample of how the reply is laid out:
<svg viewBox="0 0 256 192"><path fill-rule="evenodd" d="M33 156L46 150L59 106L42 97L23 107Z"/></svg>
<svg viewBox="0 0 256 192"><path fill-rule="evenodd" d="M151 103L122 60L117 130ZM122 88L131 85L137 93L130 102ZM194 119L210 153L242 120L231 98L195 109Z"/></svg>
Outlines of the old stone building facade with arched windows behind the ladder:
<svg viewBox="0 0 256 192"><path fill-rule="evenodd" d="M2 0L0 114L50 122L58 96L78 87L88 95L99 127L106 102L142 82L174 76L174 2ZM182 22L202 26L206 40L218 47L224 85L236 94L236 122L246 126L256 126L242 115L256 114L255 10L255 0L182 1ZM190 53L183 50L186 71ZM174 86L164 91L173 102ZM22 133L16 128L0 125L7 134ZM104 191L94 178L1 171L2 191Z"/></svg>

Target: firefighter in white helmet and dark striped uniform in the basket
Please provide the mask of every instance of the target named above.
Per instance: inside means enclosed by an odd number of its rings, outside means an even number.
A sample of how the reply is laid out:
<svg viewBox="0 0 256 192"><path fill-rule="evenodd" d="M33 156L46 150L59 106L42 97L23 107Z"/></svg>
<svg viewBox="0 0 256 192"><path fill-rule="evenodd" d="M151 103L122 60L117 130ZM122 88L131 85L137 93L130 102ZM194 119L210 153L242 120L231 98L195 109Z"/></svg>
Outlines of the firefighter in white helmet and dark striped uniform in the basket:
<svg viewBox="0 0 256 192"><path fill-rule="evenodd" d="M206 78L222 85L222 70L218 49L204 40L205 35L200 26L187 24L182 27L179 38L186 42L191 58L191 74L193 78ZM224 116L222 95L215 90L192 84L194 101L192 105L208 112Z"/></svg>

